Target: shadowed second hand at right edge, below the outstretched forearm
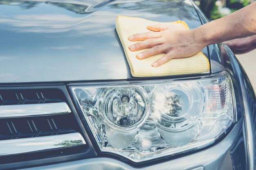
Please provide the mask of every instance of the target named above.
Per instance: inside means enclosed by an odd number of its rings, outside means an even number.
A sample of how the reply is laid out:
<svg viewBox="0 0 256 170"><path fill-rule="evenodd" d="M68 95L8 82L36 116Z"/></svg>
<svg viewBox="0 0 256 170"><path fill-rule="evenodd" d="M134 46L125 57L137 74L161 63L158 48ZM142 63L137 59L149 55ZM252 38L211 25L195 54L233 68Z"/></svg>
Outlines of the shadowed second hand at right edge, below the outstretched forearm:
<svg viewBox="0 0 256 170"><path fill-rule="evenodd" d="M224 42L234 54L244 54L256 48L256 35Z"/></svg>

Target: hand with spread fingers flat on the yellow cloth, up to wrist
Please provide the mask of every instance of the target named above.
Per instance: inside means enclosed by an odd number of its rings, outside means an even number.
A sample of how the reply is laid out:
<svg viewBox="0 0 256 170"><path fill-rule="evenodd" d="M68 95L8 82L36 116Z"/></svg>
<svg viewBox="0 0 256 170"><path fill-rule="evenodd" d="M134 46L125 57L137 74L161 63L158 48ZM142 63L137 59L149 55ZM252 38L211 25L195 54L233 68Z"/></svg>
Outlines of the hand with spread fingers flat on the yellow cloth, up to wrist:
<svg viewBox="0 0 256 170"><path fill-rule="evenodd" d="M132 44L129 49L137 51L150 48L137 54L138 59L165 52L163 57L152 64L153 67L158 67L174 58L191 57L207 45L199 40L200 36L196 36L195 31L176 24L156 24L147 28L154 32L139 33L128 37L130 41L139 41Z"/></svg>

